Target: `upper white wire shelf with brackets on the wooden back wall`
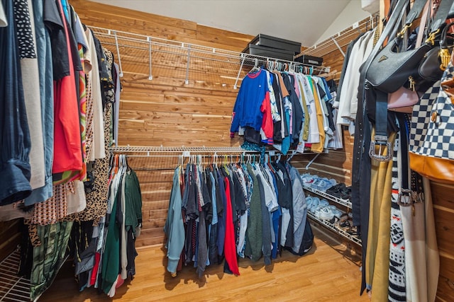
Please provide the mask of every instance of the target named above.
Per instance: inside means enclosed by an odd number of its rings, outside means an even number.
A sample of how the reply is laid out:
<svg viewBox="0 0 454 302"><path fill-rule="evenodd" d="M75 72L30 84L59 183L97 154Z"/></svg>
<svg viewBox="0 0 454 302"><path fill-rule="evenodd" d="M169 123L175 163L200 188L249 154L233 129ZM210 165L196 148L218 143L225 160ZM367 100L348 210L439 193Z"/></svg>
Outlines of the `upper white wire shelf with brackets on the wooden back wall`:
<svg viewBox="0 0 454 302"><path fill-rule="evenodd" d="M185 84L189 81L210 79L223 85L233 85L250 71L250 66L267 66L268 62L278 62L290 68L297 66L312 67L314 74L329 72L328 67L312 66L272 57L262 57L255 54L245 54L231 50L194 45L186 42L162 39L120 30L90 27L102 45L110 48L118 61L120 76L125 72L133 74L135 79L153 80L155 74L179 73ZM123 70L122 62L127 62ZM210 64L206 64L210 62ZM155 69L159 66L159 71Z"/></svg>

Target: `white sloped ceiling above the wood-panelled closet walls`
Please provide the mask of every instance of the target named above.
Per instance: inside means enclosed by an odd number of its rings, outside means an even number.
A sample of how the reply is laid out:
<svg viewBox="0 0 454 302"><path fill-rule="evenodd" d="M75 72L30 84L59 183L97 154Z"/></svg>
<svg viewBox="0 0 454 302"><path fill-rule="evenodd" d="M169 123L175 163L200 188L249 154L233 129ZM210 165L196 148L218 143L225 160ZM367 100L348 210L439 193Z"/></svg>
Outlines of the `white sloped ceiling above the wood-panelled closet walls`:
<svg viewBox="0 0 454 302"><path fill-rule="evenodd" d="M272 35L301 42L306 47L369 16L361 10L360 0L94 1L236 33ZM332 33L329 33L330 29Z"/></svg>

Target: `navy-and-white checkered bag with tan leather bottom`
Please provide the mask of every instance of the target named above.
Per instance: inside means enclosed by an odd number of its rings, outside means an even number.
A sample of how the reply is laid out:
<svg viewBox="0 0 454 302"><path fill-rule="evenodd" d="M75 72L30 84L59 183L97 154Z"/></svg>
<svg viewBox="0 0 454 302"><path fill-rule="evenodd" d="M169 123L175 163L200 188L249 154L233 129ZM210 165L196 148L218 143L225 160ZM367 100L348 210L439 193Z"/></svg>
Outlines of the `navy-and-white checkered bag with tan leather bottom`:
<svg viewBox="0 0 454 302"><path fill-rule="evenodd" d="M441 81L414 105L409 141L410 168L445 183L454 183L454 105L443 90L443 83L453 76L450 62Z"/></svg>

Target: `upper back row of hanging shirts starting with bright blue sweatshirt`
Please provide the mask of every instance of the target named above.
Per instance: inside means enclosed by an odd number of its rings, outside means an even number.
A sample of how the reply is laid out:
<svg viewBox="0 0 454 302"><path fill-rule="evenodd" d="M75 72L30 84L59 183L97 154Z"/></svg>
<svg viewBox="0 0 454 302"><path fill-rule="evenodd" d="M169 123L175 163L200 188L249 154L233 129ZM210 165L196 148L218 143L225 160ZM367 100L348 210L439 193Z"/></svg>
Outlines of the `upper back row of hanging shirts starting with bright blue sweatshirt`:
<svg viewBox="0 0 454 302"><path fill-rule="evenodd" d="M231 137L238 132L245 141L272 145L284 155L291 148L300 153L340 149L331 91L336 89L319 76L253 68L238 91Z"/></svg>

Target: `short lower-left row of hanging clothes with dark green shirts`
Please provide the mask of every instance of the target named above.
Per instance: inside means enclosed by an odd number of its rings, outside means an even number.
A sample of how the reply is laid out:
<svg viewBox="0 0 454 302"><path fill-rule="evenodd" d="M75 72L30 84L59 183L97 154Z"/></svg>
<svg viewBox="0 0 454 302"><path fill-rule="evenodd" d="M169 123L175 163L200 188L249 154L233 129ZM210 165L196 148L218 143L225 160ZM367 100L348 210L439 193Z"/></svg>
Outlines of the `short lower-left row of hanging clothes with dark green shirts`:
<svg viewBox="0 0 454 302"><path fill-rule="evenodd" d="M135 238L142 226L142 196L126 156L114 155L109 170L106 215L96 226L80 222L74 228L74 264L79 289L94 286L110 297L135 275ZM89 236L89 234L91 236Z"/></svg>

